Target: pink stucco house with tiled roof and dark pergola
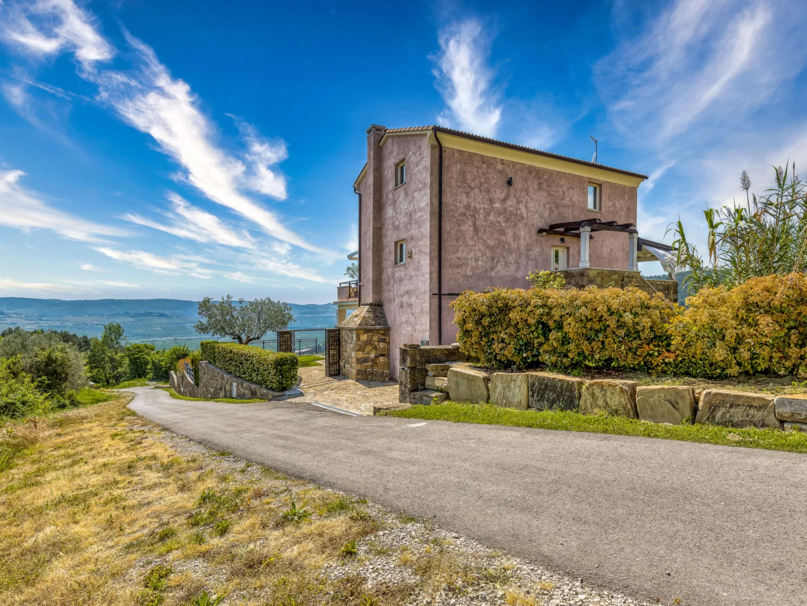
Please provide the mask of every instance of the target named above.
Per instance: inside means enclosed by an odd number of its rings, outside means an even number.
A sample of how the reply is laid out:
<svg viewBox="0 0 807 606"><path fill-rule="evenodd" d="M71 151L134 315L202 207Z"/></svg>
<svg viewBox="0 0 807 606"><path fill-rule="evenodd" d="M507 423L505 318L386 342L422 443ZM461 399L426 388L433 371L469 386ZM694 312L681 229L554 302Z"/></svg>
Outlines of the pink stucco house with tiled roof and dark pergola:
<svg viewBox="0 0 807 606"><path fill-rule="evenodd" d="M383 305L391 378L403 343L455 340L449 303L466 289L526 288L536 270L638 276L642 243L663 246L635 229L645 175L438 126L366 133L349 303Z"/></svg>

